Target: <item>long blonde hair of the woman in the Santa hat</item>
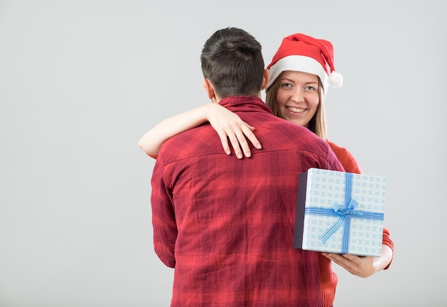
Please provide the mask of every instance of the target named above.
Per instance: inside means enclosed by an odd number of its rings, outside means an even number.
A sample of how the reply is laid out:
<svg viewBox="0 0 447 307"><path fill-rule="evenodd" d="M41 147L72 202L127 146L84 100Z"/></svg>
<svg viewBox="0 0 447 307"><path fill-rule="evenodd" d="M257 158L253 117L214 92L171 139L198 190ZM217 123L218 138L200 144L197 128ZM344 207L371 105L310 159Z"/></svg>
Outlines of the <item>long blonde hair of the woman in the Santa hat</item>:
<svg viewBox="0 0 447 307"><path fill-rule="evenodd" d="M280 80L283 72L276 78L273 84L266 90L266 105L268 108L271 108L273 114L278 115L278 103L276 103L276 94L278 93L278 89L280 86ZM315 115L308 123L308 130L311 130L313 133L321 137L323 140L326 140L326 110L324 108L324 89L323 84L321 83L320 77L318 77L318 108L316 109Z"/></svg>

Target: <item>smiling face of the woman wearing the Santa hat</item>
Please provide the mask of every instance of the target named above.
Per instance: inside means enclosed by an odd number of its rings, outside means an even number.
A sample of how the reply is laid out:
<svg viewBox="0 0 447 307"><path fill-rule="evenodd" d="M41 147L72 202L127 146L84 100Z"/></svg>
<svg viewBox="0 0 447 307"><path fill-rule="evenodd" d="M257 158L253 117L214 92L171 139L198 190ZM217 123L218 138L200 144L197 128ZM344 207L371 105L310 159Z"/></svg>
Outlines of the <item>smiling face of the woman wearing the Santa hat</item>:
<svg viewBox="0 0 447 307"><path fill-rule="evenodd" d="M320 103L318 77L301 71L284 71L276 94L280 118L308 128Z"/></svg>

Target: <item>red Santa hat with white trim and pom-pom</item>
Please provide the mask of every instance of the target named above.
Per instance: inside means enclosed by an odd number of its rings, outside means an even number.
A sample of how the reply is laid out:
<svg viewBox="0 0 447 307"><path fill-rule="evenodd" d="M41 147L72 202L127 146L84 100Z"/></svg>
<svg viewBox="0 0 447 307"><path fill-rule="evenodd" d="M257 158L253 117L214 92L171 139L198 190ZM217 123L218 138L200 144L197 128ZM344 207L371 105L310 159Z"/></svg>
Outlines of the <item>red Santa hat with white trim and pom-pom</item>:
<svg viewBox="0 0 447 307"><path fill-rule="evenodd" d="M283 38L267 69L270 78L266 88L270 88L283 71L313 73L320 77L325 93L329 85L333 88L343 85L343 77L333 66L332 43L301 33Z"/></svg>

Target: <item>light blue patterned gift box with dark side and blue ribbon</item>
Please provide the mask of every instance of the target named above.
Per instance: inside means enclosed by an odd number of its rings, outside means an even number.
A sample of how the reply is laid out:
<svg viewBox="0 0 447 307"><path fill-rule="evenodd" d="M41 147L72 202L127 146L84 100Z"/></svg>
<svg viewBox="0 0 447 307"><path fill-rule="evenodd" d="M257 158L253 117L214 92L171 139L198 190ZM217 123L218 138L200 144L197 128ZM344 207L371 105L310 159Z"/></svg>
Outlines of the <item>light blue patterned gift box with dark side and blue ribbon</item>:
<svg viewBox="0 0 447 307"><path fill-rule="evenodd" d="M293 248L381 256L386 178L311 168L299 175Z"/></svg>

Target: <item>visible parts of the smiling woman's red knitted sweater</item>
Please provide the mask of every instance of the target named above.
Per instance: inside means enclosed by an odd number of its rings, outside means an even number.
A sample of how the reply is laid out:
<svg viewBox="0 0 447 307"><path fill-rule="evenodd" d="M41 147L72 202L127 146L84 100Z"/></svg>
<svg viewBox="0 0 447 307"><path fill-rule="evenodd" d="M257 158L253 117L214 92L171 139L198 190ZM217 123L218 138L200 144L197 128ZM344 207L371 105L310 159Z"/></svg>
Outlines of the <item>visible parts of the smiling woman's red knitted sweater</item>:
<svg viewBox="0 0 447 307"><path fill-rule="evenodd" d="M356 159L351 155L351 152L348 152L346 148L339 147L336 143L328 142L328 145L332 148L333 152L336 154L338 161L341 162L343 168L346 172L352 172L356 174L362 174L360 165ZM394 244L390 239L390 231L383 227L383 244L390 246L390 248L394 252ZM332 271L332 263L331 260L327 259L325 256L320 254L318 256L320 262L320 278L321 278L321 295L323 296L323 307L332 306L333 300L335 298L336 286L337 286L337 275ZM391 262L390 262L391 264ZM390 266L386 266L385 269L388 269Z"/></svg>

